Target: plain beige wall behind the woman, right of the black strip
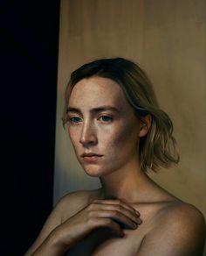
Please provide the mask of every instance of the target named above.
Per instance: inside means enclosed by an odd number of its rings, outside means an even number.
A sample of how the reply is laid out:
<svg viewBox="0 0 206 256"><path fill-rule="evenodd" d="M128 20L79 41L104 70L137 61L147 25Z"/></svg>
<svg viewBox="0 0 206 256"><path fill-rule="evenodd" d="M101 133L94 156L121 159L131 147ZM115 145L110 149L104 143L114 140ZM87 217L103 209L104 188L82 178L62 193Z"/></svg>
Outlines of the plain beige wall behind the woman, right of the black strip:
<svg viewBox="0 0 206 256"><path fill-rule="evenodd" d="M146 70L161 108L174 120L181 163L151 176L206 214L204 0L61 1L54 202L99 186L79 167L60 118L71 71L115 56Z"/></svg>

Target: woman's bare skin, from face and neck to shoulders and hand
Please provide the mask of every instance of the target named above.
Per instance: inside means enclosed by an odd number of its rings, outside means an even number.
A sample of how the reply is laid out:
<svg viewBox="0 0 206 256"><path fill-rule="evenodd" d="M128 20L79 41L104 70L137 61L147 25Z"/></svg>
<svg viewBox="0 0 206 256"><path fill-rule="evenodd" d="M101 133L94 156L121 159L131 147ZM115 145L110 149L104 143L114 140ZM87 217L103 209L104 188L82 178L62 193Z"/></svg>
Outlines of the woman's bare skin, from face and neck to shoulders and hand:
<svg viewBox="0 0 206 256"><path fill-rule="evenodd" d="M72 89L68 120L81 166L102 187L64 196L25 256L202 255L202 213L141 172L139 141L151 117L140 122L120 86L95 76Z"/></svg>

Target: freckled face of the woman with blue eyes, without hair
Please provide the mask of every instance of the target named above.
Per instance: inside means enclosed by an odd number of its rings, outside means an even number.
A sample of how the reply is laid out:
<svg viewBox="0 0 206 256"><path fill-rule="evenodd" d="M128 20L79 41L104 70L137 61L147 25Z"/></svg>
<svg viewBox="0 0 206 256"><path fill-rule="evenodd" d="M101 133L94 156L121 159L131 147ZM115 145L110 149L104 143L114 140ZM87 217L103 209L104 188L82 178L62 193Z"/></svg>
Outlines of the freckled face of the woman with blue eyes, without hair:
<svg viewBox="0 0 206 256"><path fill-rule="evenodd" d="M79 81L67 115L72 145L87 174L104 176L138 160L140 122L117 82L98 76Z"/></svg>

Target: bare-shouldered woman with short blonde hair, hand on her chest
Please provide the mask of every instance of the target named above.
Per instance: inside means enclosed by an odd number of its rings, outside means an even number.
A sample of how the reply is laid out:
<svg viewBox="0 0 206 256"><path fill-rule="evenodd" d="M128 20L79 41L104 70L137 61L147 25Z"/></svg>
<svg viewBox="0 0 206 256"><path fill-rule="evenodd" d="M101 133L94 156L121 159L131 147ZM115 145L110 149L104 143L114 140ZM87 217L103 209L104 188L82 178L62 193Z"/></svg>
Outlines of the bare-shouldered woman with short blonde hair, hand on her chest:
<svg viewBox="0 0 206 256"><path fill-rule="evenodd" d="M202 255L202 213L147 175L179 156L141 68L115 58L74 71L63 124L79 163L102 186L64 196L25 255Z"/></svg>

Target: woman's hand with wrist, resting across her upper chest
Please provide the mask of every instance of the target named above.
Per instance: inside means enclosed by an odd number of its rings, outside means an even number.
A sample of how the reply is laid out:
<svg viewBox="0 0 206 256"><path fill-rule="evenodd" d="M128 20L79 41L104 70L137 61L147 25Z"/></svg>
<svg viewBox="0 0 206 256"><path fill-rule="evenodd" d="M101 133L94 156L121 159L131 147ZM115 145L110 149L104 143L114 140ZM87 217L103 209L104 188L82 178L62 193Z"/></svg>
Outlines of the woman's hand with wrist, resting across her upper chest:
<svg viewBox="0 0 206 256"><path fill-rule="evenodd" d="M94 200L86 208L60 224L54 232L58 237L58 245L68 249L97 228L107 227L118 236L123 236L122 225L136 229L141 223L140 213L125 202Z"/></svg>

